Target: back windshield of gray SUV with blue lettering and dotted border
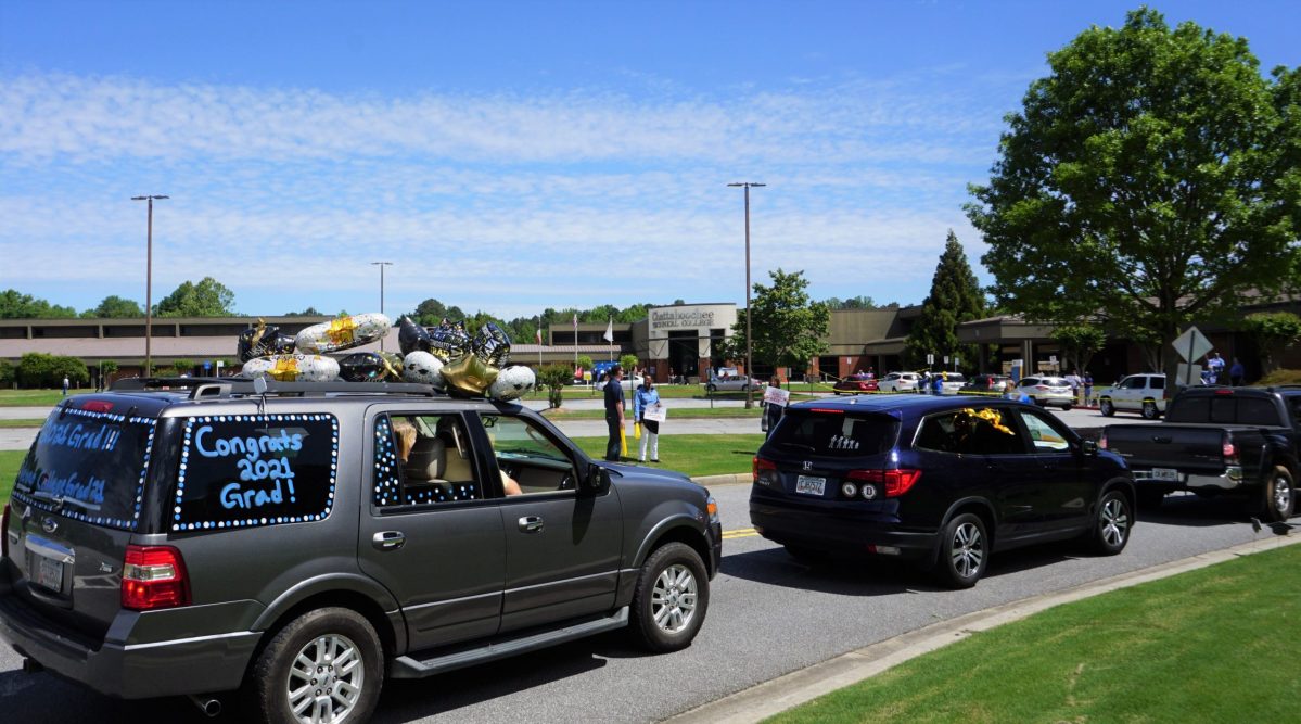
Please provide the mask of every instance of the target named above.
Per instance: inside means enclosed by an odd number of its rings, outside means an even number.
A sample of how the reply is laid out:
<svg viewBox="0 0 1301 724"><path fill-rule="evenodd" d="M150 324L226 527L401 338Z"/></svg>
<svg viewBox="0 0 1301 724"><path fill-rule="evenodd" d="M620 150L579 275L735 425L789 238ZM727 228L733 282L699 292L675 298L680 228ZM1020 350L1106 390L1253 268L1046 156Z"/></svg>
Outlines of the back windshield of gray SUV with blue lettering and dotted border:
<svg viewBox="0 0 1301 724"><path fill-rule="evenodd" d="M152 418L57 410L27 451L13 496L69 518L135 530L155 423Z"/></svg>

